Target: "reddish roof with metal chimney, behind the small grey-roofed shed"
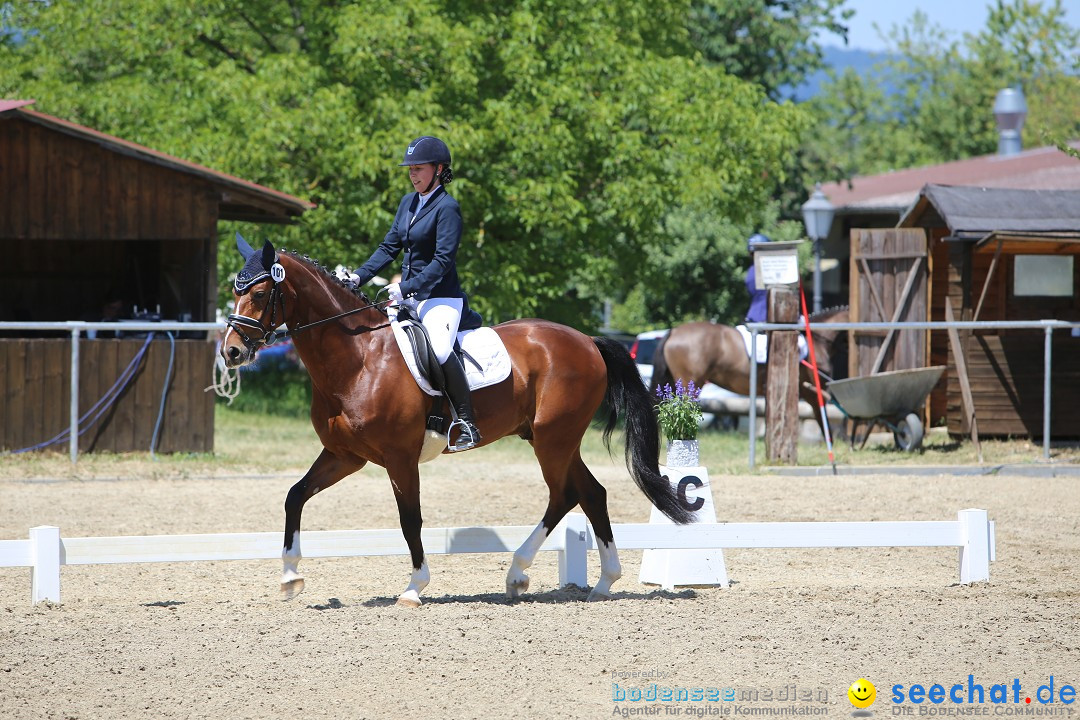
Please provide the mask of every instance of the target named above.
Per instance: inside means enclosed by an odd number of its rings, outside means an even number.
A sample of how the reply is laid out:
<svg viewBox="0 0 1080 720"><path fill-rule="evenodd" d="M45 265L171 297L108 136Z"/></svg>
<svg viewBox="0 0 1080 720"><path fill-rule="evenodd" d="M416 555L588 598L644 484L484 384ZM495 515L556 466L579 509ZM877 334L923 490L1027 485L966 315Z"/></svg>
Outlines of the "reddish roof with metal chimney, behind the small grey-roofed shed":
<svg viewBox="0 0 1080 720"><path fill-rule="evenodd" d="M1080 150L1080 140L1069 144ZM940 165L855 177L822 185L841 215L901 213L926 185L978 186L1024 190L1080 190L1080 160L1057 148L1025 150L1014 155L982 155Z"/></svg>

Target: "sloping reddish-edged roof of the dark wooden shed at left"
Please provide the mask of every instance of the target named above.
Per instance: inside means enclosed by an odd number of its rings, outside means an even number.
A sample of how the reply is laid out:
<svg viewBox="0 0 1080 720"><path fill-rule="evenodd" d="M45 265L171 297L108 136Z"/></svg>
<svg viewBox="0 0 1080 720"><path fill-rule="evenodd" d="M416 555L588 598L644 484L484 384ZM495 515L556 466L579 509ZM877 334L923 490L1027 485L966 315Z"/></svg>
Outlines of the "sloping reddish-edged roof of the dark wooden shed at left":
<svg viewBox="0 0 1080 720"><path fill-rule="evenodd" d="M27 106L33 100L0 99L0 117L9 113L51 130L96 142L112 152L126 154L144 162L153 163L188 175L194 175L208 180L220 192L218 217L222 220L249 220L253 222L289 222L305 210L315 205L307 200L296 198L280 190L264 187L248 180L228 175L198 163L181 160L173 155L147 148L102 133L67 120L62 120L43 112L30 110Z"/></svg>

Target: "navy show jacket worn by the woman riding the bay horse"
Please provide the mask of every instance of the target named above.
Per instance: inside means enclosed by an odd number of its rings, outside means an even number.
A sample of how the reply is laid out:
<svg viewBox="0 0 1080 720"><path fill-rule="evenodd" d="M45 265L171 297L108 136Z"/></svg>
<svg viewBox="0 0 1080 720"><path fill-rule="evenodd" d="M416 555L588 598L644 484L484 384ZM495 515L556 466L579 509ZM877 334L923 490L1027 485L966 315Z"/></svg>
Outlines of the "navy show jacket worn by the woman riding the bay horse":
<svg viewBox="0 0 1080 720"><path fill-rule="evenodd" d="M428 198L419 213L420 193L402 198L387 236L356 269L360 284L368 282L403 252L402 295L417 300L461 298L462 330L480 327L480 313L469 307L469 297L458 281L458 245L461 243L461 206L443 186Z"/></svg>

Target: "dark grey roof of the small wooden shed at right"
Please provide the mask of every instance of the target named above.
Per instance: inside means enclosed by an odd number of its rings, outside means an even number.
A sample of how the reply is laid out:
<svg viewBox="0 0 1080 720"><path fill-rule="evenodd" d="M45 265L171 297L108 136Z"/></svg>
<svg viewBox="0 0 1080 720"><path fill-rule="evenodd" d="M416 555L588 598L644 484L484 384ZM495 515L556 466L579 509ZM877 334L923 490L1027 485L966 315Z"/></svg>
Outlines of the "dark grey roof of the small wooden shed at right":
<svg viewBox="0 0 1080 720"><path fill-rule="evenodd" d="M927 216L932 223L940 217L954 235L1080 233L1080 190L928 185L897 227L923 227Z"/></svg>

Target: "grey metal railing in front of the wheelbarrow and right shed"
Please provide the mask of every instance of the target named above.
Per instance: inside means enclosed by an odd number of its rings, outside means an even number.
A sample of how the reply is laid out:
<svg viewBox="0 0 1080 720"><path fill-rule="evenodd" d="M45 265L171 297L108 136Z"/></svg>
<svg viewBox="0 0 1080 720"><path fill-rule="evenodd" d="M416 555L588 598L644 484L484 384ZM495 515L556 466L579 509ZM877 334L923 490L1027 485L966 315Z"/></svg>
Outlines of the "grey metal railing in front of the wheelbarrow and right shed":
<svg viewBox="0 0 1080 720"><path fill-rule="evenodd" d="M1080 323L1068 323L1059 320L1005 320L1005 321L954 321L924 323L819 323L816 327L826 326L829 330L999 330L999 329L1041 329L1043 331L1042 358L1042 457L1050 460L1050 370L1052 355L1052 339L1054 330L1072 330L1080 328ZM812 326L813 327L813 326ZM769 330L806 329L801 323L746 323L751 332L751 347L757 347L758 332ZM757 363L750 364L750 466L754 467L756 435L753 429L757 423Z"/></svg>

